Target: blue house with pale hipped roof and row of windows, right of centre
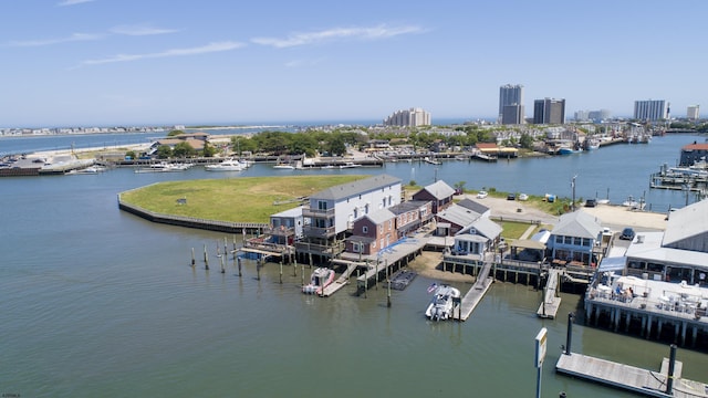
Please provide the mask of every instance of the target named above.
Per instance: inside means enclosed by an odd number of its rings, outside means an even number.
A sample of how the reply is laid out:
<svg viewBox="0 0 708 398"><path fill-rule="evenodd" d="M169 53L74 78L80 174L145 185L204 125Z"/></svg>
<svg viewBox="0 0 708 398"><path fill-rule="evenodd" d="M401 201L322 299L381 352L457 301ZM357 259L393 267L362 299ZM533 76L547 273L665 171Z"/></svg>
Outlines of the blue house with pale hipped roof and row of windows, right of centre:
<svg viewBox="0 0 708 398"><path fill-rule="evenodd" d="M579 210L561 216L548 240L550 259L554 264L594 265L595 245L602 237L602 226L595 217Z"/></svg>

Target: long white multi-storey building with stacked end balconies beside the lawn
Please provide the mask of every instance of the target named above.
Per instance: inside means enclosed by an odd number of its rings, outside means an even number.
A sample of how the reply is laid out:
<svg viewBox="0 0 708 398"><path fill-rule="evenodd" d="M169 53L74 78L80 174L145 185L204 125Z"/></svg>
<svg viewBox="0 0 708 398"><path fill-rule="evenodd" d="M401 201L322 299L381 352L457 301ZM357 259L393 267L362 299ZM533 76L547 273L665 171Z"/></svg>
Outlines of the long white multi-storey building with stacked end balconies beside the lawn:
<svg viewBox="0 0 708 398"><path fill-rule="evenodd" d="M303 238L295 242L298 255L325 262L344 251L344 239L354 221L400 202L400 179L373 176L324 189L310 196L303 208Z"/></svg>

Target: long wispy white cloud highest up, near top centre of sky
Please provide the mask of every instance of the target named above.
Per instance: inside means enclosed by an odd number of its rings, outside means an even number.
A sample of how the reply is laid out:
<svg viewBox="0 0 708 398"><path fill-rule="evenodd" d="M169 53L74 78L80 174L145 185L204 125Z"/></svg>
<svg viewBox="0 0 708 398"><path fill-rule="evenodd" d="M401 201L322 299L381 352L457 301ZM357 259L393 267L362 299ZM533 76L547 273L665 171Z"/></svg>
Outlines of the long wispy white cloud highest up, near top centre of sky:
<svg viewBox="0 0 708 398"><path fill-rule="evenodd" d="M257 44L271 45L278 49L283 49L334 40L378 40L393 38L400 34L412 34L420 32L424 32L424 29L419 27L387 27L385 24L381 24L369 28L334 28L319 32L294 33L289 35L287 39L254 38L251 41Z"/></svg>

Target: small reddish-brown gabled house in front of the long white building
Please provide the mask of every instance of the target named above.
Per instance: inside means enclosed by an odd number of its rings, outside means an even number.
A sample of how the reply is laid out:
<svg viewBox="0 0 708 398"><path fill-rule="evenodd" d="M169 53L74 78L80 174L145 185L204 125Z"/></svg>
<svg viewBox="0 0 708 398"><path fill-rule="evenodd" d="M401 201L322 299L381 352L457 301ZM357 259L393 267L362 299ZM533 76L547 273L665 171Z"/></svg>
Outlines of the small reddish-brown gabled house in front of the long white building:
<svg viewBox="0 0 708 398"><path fill-rule="evenodd" d="M391 210L382 209L354 221L352 235L346 239L346 251L368 255L395 243L398 240L395 219L396 214Z"/></svg>

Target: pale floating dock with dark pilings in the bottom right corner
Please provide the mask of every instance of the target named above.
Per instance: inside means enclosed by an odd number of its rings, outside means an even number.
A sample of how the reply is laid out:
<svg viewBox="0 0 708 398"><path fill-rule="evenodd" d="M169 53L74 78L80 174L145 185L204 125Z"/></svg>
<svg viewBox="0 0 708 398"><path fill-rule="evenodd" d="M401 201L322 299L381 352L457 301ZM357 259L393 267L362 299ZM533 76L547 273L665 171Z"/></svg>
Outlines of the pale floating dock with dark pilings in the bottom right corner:
<svg viewBox="0 0 708 398"><path fill-rule="evenodd" d="M674 368L673 394L669 395L666 392L668 358L663 359L662 367L658 371L575 353L561 355L555 365L558 373L648 397L708 397L708 385L683 379L681 369L683 364L677 360Z"/></svg>

